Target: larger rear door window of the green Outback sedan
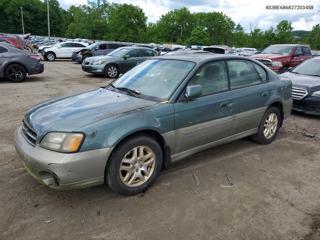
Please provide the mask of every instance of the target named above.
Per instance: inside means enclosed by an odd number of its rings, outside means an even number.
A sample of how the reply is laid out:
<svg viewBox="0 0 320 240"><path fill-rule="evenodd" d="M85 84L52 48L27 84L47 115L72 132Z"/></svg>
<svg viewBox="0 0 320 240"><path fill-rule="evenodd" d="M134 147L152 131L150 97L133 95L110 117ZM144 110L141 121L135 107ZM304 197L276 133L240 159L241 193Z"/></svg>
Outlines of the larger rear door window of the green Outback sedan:
<svg viewBox="0 0 320 240"><path fill-rule="evenodd" d="M228 60L231 89L261 83L257 71L250 61Z"/></svg>

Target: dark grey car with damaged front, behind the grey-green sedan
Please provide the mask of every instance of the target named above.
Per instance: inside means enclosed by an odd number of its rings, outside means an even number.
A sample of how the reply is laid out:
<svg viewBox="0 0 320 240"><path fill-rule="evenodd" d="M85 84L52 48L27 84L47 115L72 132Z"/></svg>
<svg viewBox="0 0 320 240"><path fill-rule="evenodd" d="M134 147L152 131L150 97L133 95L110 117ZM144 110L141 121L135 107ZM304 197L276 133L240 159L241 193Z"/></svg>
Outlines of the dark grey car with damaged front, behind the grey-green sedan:
<svg viewBox="0 0 320 240"><path fill-rule="evenodd" d="M121 42L99 42L91 44L86 48L80 48L74 51L71 55L71 60L82 63L84 59L93 56L107 55L109 52L119 47L130 47L130 43Z"/></svg>

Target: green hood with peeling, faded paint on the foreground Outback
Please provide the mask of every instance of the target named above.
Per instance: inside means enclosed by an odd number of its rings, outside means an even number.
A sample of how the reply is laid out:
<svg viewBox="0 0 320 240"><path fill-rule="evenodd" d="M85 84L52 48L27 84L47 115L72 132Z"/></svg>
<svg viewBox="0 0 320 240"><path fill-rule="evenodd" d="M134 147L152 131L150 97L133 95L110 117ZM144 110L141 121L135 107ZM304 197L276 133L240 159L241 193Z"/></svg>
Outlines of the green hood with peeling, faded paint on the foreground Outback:
<svg viewBox="0 0 320 240"><path fill-rule="evenodd" d="M47 132L76 131L87 124L155 104L157 102L97 88L39 103L28 110L24 121L41 140Z"/></svg>

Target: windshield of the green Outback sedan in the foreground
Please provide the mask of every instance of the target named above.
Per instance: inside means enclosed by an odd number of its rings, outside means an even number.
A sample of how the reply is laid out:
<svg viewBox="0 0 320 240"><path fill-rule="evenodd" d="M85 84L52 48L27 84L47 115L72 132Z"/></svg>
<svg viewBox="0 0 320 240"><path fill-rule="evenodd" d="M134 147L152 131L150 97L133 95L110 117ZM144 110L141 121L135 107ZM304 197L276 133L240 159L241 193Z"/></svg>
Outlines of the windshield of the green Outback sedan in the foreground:
<svg viewBox="0 0 320 240"><path fill-rule="evenodd" d="M149 59L135 66L112 84L140 92L139 97L166 101L196 64L182 60ZM112 90L112 88L110 87Z"/></svg>

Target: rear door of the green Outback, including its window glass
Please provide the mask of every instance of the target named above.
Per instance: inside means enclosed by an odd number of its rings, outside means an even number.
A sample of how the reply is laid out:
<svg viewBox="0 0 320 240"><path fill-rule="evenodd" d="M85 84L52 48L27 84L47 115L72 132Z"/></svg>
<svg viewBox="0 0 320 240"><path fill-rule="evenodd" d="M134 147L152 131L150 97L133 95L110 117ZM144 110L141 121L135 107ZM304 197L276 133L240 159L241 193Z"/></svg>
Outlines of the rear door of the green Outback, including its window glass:
<svg viewBox="0 0 320 240"><path fill-rule="evenodd" d="M248 60L228 60L227 64L233 94L234 133L255 129L271 95L266 71Z"/></svg>

